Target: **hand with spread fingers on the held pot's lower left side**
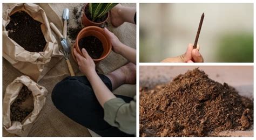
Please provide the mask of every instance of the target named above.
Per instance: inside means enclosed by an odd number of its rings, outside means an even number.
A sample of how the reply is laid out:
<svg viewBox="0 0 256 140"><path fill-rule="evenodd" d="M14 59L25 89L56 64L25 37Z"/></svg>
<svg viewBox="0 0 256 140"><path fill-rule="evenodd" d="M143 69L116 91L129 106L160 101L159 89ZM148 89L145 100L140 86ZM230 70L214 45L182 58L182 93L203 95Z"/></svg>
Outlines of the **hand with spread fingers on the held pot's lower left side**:
<svg viewBox="0 0 256 140"><path fill-rule="evenodd" d="M90 55L87 53L87 51L83 48L82 53L84 56L80 55L76 48L73 48L74 54L77 59L77 64L79 66L80 71L85 74L86 76L90 75L92 72L95 72L95 63L93 62Z"/></svg>

